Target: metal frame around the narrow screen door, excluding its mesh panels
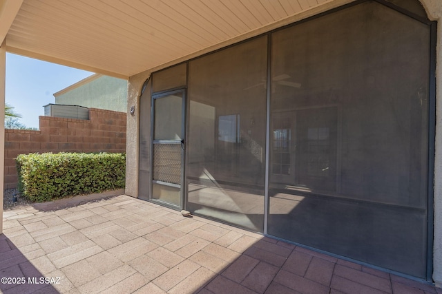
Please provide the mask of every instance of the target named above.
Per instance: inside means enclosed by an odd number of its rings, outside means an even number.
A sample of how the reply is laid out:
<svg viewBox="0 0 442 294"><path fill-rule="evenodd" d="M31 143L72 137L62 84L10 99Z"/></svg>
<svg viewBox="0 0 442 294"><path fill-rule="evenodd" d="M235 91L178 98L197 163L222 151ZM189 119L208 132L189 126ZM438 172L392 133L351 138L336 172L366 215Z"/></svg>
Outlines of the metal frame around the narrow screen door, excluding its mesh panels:
<svg viewBox="0 0 442 294"><path fill-rule="evenodd" d="M154 140L155 134L155 100L158 98L162 98L164 96L169 96L173 94L181 94L182 97L182 124L181 124L181 187L180 187L180 205L175 205L173 203L166 202L164 200L153 198L153 146L157 144L161 144L160 142L154 143L154 141L167 141L167 140ZM150 165L151 165L151 176L149 178L149 196L148 200L157 204L161 204L162 206L169 207L175 210L185 209L186 201L186 88L182 87L179 89L173 90L165 90L157 93L151 94L151 138L150 138ZM169 140L175 141L175 140ZM175 143L178 144L178 143ZM160 184L161 185L161 184ZM173 187L173 185L171 185Z"/></svg>

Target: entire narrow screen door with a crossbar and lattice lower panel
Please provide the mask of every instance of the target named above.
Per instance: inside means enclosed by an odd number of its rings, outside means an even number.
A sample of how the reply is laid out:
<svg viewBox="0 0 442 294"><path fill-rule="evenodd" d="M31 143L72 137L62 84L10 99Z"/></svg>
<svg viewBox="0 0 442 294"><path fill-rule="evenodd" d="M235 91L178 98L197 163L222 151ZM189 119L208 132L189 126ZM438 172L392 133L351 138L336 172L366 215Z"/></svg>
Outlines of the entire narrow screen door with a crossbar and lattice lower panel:
<svg viewBox="0 0 442 294"><path fill-rule="evenodd" d="M182 208L184 92L153 96L151 199Z"/></svg>

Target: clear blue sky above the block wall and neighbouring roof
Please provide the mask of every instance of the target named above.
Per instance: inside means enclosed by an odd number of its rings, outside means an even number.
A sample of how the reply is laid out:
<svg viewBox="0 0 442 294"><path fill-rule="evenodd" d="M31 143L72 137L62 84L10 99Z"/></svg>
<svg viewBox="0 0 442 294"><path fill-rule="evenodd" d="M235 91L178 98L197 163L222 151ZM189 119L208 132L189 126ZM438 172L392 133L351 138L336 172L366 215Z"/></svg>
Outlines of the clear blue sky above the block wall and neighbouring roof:
<svg viewBox="0 0 442 294"><path fill-rule="evenodd" d="M6 103L21 115L26 127L39 127L44 105L54 103L54 93L90 76L73 67L6 54Z"/></svg>

